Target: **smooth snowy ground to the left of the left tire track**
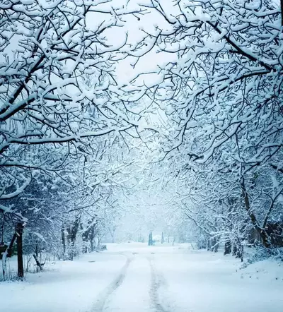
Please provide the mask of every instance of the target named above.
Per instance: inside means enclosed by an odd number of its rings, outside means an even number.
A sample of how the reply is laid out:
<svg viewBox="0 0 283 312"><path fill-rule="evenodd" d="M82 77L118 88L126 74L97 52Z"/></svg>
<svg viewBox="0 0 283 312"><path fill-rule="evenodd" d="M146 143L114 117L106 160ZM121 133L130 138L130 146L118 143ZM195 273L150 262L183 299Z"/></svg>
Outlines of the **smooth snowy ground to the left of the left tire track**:
<svg viewBox="0 0 283 312"><path fill-rule="evenodd" d="M50 263L47 271L27 274L25 282L0 282L3 311L86 312L112 282L127 258L90 253L74 261Z"/></svg>

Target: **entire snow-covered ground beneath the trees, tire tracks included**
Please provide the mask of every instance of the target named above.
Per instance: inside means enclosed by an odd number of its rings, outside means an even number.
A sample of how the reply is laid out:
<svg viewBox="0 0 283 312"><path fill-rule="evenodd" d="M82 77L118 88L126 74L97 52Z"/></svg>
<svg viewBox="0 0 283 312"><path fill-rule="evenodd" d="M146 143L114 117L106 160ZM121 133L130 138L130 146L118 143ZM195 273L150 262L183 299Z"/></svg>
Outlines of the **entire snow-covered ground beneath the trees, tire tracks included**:
<svg viewBox="0 0 283 312"><path fill-rule="evenodd" d="M26 282L1 282L0 310L282 312L283 263L240 267L186 245L108 244L103 253L50 263Z"/></svg>

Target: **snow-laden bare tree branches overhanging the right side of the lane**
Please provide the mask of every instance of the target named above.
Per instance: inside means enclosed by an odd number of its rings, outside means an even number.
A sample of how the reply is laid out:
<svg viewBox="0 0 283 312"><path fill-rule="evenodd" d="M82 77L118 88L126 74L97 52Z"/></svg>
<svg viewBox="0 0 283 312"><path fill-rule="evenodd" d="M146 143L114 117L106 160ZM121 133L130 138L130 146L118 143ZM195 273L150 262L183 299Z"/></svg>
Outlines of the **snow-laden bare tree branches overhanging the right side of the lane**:
<svg viewBox="0 0 283 312"><path fill-rule="evenodd" d="M283 191L279 2L151 0L142 7L166 25L144 32L132 56L173 55L159 70L162 81L144 88L171 120L165 152L182 163L176 171L187 172L187 187L198 188L193 219L210 234L228 227L243 241L248 217L272 246L267 223L282 222Z"/></svg>

